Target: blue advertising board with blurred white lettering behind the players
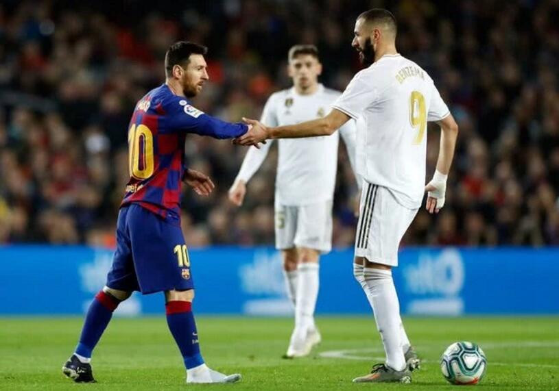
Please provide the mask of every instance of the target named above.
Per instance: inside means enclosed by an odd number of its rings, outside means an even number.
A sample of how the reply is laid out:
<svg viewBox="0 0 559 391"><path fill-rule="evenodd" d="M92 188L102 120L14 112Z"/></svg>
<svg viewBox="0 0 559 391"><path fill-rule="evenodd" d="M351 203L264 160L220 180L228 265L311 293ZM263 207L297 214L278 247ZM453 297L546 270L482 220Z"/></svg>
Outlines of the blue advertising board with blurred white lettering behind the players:
<svg viewBox="0 0 559 391"><path fill-rule="evenodd" d="M281 257L271 248L191 249L198 314L291 314ZM370 314L353 279L353 251L320 262L318 314ZM82 314L102 288L112 251L0 247L0 315ZM559 314L559 248L407 248L394 282L403 314ZM117 314L161 314L163 294L134 294Z"/></svg>

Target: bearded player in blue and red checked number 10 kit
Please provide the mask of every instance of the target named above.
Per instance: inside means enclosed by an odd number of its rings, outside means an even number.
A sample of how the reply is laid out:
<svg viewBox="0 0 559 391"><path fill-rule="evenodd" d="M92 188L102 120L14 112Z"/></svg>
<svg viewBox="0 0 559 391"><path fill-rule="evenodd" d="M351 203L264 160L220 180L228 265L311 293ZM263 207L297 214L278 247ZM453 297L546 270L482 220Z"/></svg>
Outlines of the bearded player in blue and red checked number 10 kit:
<svg viewBox="0 0 559 391"><path fill-rule="evenodd" d="M187 134L234 138L250 125L226 123L193 107L189 99L208 81L206 47L176 42L165 55L165 84L136 104L128 128L130 181L117 222L117 250L106 286L93 299L75 353L62 367L76 382L93 382L91 355L112 312L134 290L165 292L167 324L185 362L187 383L230 383L204 364L191 311L190 258L180 229L180 184L209 194L209 177L185 167ZM124 129L123 129L124 130Z"/></svg>

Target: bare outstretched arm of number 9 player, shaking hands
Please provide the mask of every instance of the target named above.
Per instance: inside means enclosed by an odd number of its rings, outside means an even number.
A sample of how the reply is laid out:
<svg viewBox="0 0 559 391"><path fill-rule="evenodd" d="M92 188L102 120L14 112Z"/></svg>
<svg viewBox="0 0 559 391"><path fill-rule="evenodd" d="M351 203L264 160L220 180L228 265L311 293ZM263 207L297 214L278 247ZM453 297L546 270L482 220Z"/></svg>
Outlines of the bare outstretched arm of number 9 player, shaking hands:
<svg viewBox="0 0 559 391"><path fill-rule="evenodd" d="M265 127L259 121L243 118L243 120L252 125L252 129L239 138L235 138L235 144L255 145L263 142L267 138L301 138L314 136L329 136L336 129L344 125L350 120L350 116L333 109L324 118L318 118L313 121L298 123L296 125Z"/></svg>

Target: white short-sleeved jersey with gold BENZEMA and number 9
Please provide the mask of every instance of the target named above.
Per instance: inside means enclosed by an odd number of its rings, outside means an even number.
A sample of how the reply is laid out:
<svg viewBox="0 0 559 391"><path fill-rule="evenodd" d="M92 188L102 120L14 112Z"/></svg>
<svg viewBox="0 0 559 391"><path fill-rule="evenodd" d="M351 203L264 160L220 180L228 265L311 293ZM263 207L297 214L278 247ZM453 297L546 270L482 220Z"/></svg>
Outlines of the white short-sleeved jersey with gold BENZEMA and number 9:
<svg viewBox="0 0 559 391"><path fill-rule="evenodd" d="M450 114L427 72L399 54L383 55L353 77L333 107L366 122L357 129L357 173L401 205L420 207L427 121Z"/></svg>

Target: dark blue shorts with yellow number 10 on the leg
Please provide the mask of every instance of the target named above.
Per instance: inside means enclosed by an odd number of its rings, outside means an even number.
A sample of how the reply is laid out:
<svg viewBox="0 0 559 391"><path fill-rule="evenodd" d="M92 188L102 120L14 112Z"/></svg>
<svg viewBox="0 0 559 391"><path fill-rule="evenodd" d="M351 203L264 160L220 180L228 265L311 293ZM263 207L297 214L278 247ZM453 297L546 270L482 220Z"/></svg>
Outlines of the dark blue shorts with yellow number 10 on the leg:
<svg viewBox="0 0 559 391"><path fill-rule="evenodd" d="M180 225L132 203L121 207L117 222L117 251L106 286L139 290L188 290L194 284Z"/></svg>

